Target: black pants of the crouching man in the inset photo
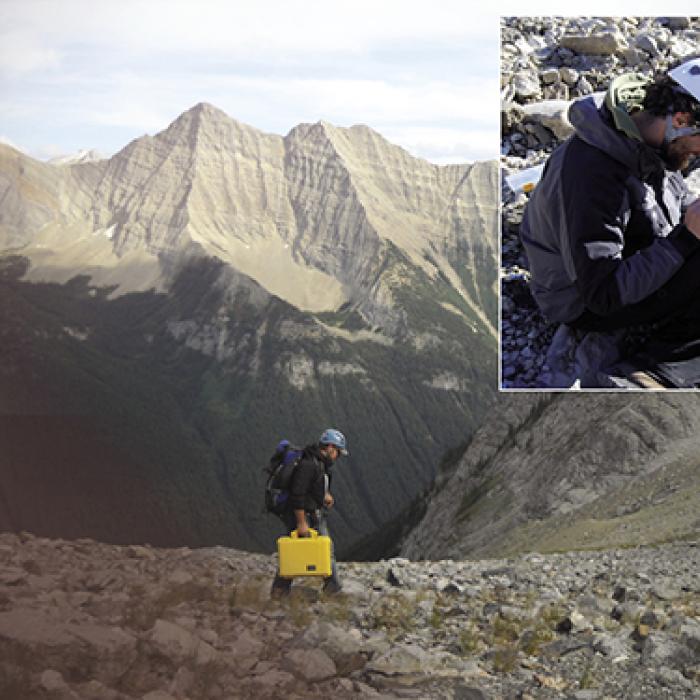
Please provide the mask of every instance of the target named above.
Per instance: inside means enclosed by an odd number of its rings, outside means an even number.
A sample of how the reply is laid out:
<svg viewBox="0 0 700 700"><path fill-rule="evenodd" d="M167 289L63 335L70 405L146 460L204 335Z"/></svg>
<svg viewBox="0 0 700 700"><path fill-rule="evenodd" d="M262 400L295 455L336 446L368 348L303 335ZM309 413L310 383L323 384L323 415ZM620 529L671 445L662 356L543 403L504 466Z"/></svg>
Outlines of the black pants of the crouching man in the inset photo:
<svg viewBox="0 0 700 700"><path fill-rule="evenodd" d="M646 299L607 316L586 309L567 325L584 331L616 331L663 321L674 326L687 325L689 334L700 329L700 251L694 252L666 284Z"/></svg>

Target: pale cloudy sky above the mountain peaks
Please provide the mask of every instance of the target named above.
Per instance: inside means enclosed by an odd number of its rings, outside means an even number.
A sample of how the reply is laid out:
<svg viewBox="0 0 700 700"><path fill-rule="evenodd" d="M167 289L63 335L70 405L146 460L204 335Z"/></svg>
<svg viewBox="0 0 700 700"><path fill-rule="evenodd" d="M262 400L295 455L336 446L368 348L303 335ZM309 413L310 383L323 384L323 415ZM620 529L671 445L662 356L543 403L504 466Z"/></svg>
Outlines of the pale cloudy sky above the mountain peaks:
<svg viewBox="0 0 700 700"><path fill-rule="evenodd" d="M434 163L496 158L499 15L560 4L470 5L0 0L0 140L40 159L111 155L209 102L269 133L322 119Z"/></svg>

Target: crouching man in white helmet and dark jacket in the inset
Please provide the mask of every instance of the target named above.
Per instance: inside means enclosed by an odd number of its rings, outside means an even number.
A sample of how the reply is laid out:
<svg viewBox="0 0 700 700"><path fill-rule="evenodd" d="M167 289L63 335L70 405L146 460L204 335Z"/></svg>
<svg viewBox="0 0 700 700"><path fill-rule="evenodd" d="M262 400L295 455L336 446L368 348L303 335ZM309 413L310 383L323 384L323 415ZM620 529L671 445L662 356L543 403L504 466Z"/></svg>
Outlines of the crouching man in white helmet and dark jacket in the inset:
<svg viewBox="0 0 700 700"><path fill-rule="evenodd" d="M542 313L584 331L697 315L700 200L680 171L700 155L700 59L620 76L569 121L521 226Z"/></svg>

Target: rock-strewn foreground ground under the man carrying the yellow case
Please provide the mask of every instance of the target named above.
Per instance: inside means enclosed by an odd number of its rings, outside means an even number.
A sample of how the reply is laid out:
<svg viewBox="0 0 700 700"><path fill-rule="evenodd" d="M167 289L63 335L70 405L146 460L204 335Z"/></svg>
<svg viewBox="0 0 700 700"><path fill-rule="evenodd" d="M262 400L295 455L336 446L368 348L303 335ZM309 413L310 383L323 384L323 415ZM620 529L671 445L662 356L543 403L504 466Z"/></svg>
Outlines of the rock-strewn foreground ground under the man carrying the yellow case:
<svg viewBox="0 0 700 700"><path fill-rule="evenodd" d="M0 697L700 698L700 543L341 563L0 535Z"/></svg>

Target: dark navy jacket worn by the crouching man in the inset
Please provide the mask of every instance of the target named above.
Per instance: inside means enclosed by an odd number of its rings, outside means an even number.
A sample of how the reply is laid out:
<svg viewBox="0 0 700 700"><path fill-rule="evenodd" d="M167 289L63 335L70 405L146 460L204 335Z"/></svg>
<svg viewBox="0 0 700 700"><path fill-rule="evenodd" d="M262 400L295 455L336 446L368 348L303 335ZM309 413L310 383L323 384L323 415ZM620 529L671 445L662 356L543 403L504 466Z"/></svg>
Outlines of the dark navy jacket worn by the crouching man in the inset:
<svg viewBox="0 0 700 700"><path fill-rule="evenodd" d="M600 96L574 102L569 120L520 229L533 296L560 322L646 299L698 247L680 223L693 199L680 173L616 128Z"/></svg>

